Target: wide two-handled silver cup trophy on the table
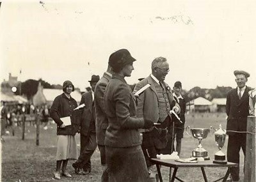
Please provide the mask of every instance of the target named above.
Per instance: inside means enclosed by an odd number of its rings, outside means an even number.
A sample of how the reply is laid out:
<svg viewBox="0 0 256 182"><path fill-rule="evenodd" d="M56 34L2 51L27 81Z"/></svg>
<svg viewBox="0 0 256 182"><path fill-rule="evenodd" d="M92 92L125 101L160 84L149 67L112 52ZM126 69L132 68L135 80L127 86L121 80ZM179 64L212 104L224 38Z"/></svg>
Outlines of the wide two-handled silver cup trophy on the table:
<svg viewBox="0 0 256 182"><path fill-rule="evenodd" d="M210 132L209 128L191 128L191 134L195 139L198 139L198 147L192 151L192 156L195 158L204 158L209 160L208 152L202 148L202 139L205 139Z"/></svg>

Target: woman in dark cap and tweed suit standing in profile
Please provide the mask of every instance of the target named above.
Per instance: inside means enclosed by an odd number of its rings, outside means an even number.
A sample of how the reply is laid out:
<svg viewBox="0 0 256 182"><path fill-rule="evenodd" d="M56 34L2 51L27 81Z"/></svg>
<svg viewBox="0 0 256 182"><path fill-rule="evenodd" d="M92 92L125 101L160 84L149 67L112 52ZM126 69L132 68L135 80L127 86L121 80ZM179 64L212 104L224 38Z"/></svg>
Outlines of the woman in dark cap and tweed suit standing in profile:
<svg viewBox="0 0 256 182"><path fill-rule="evenodd" d="M136 104L124 77L131 77L136 61L128 50L109 57L113 77L106 86L104 107L109 125L106 130L106 162L111 182L148 181L148 170L141 150L138 128L154 126L152 121L136 118Z"/></svg>

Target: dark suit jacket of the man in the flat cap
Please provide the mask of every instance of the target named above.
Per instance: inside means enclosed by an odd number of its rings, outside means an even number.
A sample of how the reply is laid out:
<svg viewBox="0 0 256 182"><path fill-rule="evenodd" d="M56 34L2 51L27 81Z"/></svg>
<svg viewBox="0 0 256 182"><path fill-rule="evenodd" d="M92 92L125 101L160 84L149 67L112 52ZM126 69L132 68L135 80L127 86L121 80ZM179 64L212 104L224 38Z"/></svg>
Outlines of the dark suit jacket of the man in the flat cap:
<svg viewBox="0 0 256 182"><path fill-rule="evenodd" d="M228 92L226 112L227 112L227 130L245 132L247 126L247 116L249 115L249 95L251 88L246 86L244 94L239 100L237 88ZM227 132L228 135L234 132Z"/></svg>

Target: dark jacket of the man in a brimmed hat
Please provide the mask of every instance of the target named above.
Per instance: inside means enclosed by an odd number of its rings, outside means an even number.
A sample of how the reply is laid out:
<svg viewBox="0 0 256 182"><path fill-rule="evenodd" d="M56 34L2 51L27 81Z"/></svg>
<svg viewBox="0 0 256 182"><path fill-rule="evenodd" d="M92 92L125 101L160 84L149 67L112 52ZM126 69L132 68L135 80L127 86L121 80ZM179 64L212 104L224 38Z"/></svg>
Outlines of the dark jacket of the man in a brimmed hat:
<svg viewBox="0 0 256 182"><path fill-rule="evenodd" d="M95 107L93 107L92 91L82 95L80 104L83 103L85 107L83 108L80 132L82 135L88 135L89 132L95 132L95 118L93 118L93 109L95 109Z"/></svg>

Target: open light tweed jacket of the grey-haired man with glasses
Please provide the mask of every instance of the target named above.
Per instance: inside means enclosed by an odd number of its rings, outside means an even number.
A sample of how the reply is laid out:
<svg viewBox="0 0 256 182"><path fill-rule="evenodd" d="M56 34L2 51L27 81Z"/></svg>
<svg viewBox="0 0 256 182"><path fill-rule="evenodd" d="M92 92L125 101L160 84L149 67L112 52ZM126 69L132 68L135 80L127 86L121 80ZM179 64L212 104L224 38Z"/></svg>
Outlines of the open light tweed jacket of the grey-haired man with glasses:
<svg viewBox="0 0 256 182"><path fill-rule="evenodd" d="M143 91L143 93L141 93L140 97L138 98L137 116L139 118L144 117L145 119L149 119L150 121L157 123L159 119L158 96L152 77L149 75L146 79L138 82L138 84L136 84L134 87L134 92L140 90L141 87L147 84L150 84L150 87L145 89L145 91ZM164 86L166 87L171 109L174 105L179 107L179 104L176 103L173 98L172 90L168 84L164 82Z"/></svg>

